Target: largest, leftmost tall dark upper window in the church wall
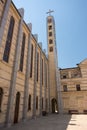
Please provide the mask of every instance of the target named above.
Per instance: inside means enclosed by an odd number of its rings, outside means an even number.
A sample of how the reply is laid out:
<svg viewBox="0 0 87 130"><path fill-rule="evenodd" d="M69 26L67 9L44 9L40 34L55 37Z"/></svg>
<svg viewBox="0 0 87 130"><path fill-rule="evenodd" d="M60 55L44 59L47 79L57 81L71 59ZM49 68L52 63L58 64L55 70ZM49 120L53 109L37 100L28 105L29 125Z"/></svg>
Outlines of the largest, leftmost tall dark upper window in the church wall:
<svg viewBox="0 0 87 130"><path fill-rule="evenodd" d="M8 60L9 60L14 24L15 24L15 20L14 20L13 16L11 16L10 25L9 25L9 29L8 29L8 35L7 35L6 44L5 44L4 55L3 55L3 60L5 62L8 62Z"/></svg>

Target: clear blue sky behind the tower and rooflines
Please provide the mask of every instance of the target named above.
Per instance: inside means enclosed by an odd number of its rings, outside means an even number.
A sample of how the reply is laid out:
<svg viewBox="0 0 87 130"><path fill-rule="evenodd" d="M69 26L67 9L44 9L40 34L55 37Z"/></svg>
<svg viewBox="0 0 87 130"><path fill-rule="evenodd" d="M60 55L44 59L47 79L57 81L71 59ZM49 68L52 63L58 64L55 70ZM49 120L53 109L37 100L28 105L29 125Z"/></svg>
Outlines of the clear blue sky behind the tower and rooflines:
<svg viewBox="0 0 87 130"><path fill-rule="evenodd" d="M32 23L32 33L47 49L46 12L54 10L58 64L74 67L87 58L87 0L13 0L25 10L24 20Z"/></svg>

